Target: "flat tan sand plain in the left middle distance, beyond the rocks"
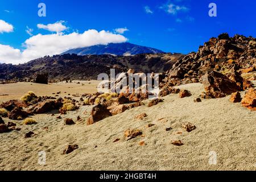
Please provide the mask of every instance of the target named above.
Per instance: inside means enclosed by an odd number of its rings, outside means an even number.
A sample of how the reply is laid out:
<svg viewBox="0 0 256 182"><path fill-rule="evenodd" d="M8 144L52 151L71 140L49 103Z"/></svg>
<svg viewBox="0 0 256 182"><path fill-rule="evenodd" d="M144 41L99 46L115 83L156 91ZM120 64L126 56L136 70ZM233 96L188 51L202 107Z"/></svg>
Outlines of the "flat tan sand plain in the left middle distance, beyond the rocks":
<svg viewBox="0 0 256 182"><path fill-rule="evenodd" d="M77 84L80 82L80 84ZM17 82L16 84L3 84L0 85L0 103L19 99L28 91L33 91L37 96L52 96L54 97L57 92L60 97L67 96L68 94L84 94L97 92L97 85L100 81L72 81L72 83L58 82L53 84L36 84L31 82ZM84 84L84 85L82 85ZM67 92L67 93L64 93ZM55 93L55 94L52 94ZM2 96L8 94L8 96Z"/></svg>

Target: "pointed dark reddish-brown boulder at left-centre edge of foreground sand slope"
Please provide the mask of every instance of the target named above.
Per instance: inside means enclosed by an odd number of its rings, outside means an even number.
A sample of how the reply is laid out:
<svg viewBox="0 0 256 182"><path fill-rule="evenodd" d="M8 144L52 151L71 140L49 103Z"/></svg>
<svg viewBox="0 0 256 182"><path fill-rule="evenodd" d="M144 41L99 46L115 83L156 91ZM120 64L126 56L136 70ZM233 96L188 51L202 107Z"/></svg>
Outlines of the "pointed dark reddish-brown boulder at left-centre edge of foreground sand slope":
<svg viewBox="0 0 256 182"><path fill-rule="evenodd" d="M107 109L106 105L98 104L93 107L90 118L87 120L87 125L92 125L102 119L110 117L112 114Z"/></svg>

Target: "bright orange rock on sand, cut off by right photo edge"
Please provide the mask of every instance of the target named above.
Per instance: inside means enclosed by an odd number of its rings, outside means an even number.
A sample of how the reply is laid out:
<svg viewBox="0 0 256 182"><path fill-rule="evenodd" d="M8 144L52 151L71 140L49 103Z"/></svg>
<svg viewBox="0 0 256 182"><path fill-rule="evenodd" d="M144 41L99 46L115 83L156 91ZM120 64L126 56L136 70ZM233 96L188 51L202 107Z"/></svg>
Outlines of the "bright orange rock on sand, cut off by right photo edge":
<svg viewBox="0 0 256 182"><path fill-rule="evenodd" d="M251 110L256 110L256 89L250 88L242 99L242 105Z"/></svg>

